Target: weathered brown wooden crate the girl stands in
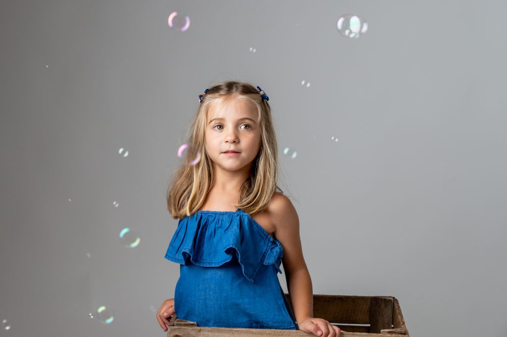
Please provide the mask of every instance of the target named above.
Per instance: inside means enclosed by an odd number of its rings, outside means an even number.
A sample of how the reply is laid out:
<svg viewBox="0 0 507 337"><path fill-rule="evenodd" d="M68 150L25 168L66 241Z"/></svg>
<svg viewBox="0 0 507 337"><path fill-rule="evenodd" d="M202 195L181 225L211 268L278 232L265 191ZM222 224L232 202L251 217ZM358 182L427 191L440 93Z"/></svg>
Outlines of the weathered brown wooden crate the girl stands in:
<svg viewBox="0 0 507 337"><path fill-rule="evenodd" d="M287 293L285 297L291 309L294 308ZM341 296L341 295L313 295L313 317L323 318L333 325L337 325L346 332L342 337L374 337L404 335L409 337L405 326L402 309L398 300L392 296ZM168 337L179 336L283 336L309 337L315 334L301 330L282 329L245 329L199 327L195 322L178 319L176 314L171 316L167 327ZM357 325L368 324L368 325Z"/></svg>

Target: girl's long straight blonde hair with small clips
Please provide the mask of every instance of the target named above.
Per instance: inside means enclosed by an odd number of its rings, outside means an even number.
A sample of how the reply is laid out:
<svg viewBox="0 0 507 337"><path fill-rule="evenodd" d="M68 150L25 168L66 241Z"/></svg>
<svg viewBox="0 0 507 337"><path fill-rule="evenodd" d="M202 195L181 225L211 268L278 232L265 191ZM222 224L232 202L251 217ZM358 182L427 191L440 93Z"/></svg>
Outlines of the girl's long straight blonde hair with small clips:
<svg viewBox="0 0 507 337"><path fill-rule="evenodd" d="M225 81L203 94L204 100L191 122L187 153L183 163L174 173L167 189L167 209L174 219L191 216L201 208L213 185L213 165L205 151L205 128L207 111L212 102L225 105L232 99L244 99L257 108L257 123L261 129L259 153L251 163L250 175L243 182L239 204L234 206L248 214L264 210L275 192L283 194L277 185L278 152L276 136L271 119L271 109L259 91L247 82ZM200 159L188 165L200 152Z"/></svg>

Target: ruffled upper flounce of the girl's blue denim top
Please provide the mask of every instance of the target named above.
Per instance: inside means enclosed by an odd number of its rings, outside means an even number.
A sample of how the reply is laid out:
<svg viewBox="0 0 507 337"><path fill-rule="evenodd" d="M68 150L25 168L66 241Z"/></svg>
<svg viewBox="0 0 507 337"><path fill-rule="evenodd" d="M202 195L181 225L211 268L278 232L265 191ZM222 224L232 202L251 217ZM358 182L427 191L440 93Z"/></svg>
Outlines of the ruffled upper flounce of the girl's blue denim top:
<svg viewBox="0 0 507 337"><path fill-rule="evenodd" d="M180 219L165 258L182 265L190 261L203 267L218 267L233 254L243 275L253 283L262 265L274 265L278 273L283 246L242 209L198 210Z"/></svg>

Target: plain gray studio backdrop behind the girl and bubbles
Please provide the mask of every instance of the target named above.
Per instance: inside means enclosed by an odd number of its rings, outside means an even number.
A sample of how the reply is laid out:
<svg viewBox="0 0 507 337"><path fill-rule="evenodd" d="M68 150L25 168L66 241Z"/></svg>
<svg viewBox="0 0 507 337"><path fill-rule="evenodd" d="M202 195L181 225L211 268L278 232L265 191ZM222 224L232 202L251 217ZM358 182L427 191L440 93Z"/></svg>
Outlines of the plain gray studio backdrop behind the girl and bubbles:
<svg viewBox="0 0 507 337"><path fill-rule="evenodd" d="M505 336L506 10L3 0L0 335L165 335L176 150L198 95L236 79L270 97L314 293L394 296L412 336ZM347 13L364 36L339 34Z"/></svg>

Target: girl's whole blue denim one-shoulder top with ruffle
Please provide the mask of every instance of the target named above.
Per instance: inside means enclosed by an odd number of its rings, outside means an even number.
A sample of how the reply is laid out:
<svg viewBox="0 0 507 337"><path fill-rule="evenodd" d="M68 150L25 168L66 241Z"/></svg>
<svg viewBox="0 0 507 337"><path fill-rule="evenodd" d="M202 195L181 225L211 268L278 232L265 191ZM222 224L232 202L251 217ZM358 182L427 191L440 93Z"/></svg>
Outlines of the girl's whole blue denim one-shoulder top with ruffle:
<svg viewBox="0 0 507 337"><path fill-rule="evenodd" d="M179 220L165 258L180 264L174 311L197 326L297 330L278 281L283 247L242 209Z"/></svg>

